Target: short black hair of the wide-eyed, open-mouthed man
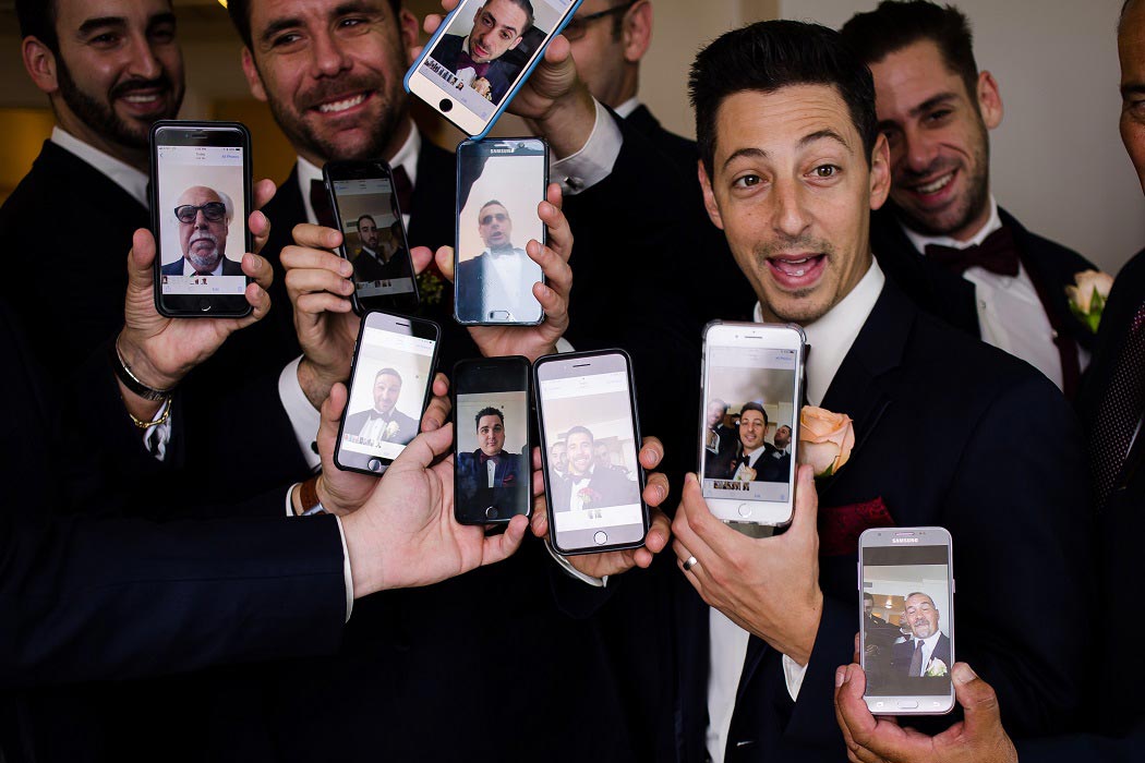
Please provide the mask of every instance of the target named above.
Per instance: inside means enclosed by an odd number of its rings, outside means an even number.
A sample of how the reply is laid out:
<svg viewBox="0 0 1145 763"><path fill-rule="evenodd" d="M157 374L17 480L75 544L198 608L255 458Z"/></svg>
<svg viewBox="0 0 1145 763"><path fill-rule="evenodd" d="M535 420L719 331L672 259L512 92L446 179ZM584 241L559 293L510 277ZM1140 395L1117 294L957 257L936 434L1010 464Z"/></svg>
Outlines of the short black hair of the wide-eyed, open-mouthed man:
<svg viewBox="0 0 1145 763"><path fill-rule="evenodd" d="M709 175L716 158L716 114L724 100L745 90L774 93L795 85L826 85L838 90L870 164L878 138L870 70L834 30L821 24L767 21L717 38L692 64L688 95L696 110L700 157Z"/></svg>

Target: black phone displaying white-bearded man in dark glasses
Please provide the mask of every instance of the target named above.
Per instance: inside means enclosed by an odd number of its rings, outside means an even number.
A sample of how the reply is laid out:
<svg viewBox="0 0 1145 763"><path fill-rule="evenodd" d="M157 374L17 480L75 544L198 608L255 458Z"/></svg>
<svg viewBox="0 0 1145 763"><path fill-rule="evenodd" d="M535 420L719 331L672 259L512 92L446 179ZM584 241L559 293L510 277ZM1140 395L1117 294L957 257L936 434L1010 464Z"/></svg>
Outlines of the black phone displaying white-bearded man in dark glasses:
<svg viewBox="0 0 1145 763"><path fill-rule="evenodd" d="M151 128L155 305L174 318L251 312L251 134L238 122L158 121Z"/></svg>

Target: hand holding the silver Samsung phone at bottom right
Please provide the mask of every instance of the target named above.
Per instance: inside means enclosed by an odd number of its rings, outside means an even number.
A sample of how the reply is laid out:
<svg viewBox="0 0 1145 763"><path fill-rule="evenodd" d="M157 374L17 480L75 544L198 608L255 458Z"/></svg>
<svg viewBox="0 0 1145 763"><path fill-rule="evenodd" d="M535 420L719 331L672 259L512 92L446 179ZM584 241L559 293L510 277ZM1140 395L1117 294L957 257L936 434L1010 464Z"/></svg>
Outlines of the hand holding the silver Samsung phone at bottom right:
<svg viewBox="0 0 1145 763"><path fill-rule="evenodd" d="M862 694L867 675L858 665L835 674L835 718L852 763L1018 763L1018 752L1002 728L997 696L965 662L950 668L954 694L964 720L930 737L899 725L893 716L871 715Z"/></svg>

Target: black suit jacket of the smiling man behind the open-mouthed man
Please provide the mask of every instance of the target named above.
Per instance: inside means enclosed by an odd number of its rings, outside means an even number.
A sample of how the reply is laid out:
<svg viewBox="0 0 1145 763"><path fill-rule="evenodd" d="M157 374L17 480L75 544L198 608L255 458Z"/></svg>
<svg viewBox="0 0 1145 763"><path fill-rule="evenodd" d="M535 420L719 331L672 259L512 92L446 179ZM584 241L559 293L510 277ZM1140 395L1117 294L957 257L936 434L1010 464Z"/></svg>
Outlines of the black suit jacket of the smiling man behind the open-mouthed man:
<svg viewBox="0 0 1145 763"><path fill-rule="evenodd" d="M1064 326L1079 345L1091 350L1093 334L1069 312L1065 289L1073 285L1074 276L1096 270L1097 265L1073 249L1029 232L1005 209L1000 208L998 216L1013 232L1030 278L1035 284L1044 284L1049 292L1051 323ZM902 232L893 205L871 215L870 238L879 267L915 304L971 336L981 335L974 285L919 254Z"/></svg>

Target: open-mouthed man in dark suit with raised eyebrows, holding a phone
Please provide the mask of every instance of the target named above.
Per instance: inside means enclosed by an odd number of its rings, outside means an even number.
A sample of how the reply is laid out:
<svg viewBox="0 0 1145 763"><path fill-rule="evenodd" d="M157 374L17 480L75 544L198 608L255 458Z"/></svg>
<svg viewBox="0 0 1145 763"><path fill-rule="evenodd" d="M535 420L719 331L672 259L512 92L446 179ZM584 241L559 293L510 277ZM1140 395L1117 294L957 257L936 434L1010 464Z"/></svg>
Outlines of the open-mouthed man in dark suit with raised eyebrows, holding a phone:
<svg viewBox="0 0 1145 763"><path fill-rule="evenodd" d="M819 487L822 523L804 467L792 523L773 538L727 527L686 479L672 526L686 583L660 565L666 601L639 586L655 574L635 574L631 597L613 594L666 621L660 647L674 670L647 692L653 708L637 710L660 720L655 753L840 760L831 697L861 617L858 535L887 524L954 535L960 649L1012 728L1075 722L1084 617L1061 609L1061 591L1088 585L1077 427L1044 376L921 313L874 261L867 221L891 173L869 71L831 30L764 22L700 54L692 97L705 202L759 296L757 319L804 326L815 348L807 402L848 413L859 437ZM1032 430L1055 446L1027 448ZM1000 635L1000 611L1043 627Z"/></svg>

